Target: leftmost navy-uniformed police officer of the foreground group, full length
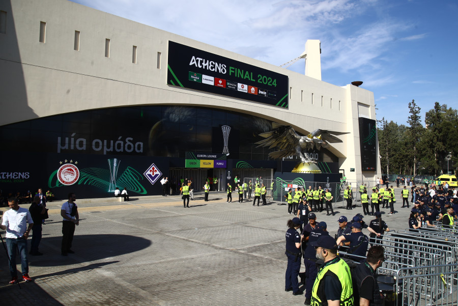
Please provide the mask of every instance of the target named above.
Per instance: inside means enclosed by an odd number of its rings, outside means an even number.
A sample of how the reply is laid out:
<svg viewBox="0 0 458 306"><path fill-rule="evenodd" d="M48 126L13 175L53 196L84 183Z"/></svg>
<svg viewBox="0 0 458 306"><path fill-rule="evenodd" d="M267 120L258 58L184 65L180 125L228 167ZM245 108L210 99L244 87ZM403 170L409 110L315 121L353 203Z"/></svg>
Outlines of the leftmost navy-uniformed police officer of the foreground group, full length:
<svg viewBox="0 0 458 306"><path fill-rule="evenodd" d="M297 277L301 268L301 243L303 235L299 236L297 229L302 224L299 218L288 220L288 231L286 237L286 252L288 257L288 267L285 273L285 286L284 291L293 291L293 295L302 295L303 292L299 290L299 282Z"/></svg>

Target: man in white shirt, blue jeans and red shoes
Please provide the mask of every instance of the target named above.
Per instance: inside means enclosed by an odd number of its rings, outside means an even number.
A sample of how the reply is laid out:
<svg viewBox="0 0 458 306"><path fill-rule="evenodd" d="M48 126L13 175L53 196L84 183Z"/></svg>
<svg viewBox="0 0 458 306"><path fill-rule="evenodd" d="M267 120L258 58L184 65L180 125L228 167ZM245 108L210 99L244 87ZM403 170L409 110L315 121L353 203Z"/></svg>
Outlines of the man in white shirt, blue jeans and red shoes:
<svg viewBox="0 0 458 306"><path fill-rule="evenodd" d="M32 230L34 221L30 212L19 207L16 198L8 199L8 206L11 208L3 214L2 225L0 229L6 230L6 245L8 249L9 267L11 273L10 284L17 283L17 268L16 268L16 248L19 249L21 256L22 280L32 282L28 276L28 261L27 261L27 238L28 233ZM28 228L27 228L28 223Z"/></svg>

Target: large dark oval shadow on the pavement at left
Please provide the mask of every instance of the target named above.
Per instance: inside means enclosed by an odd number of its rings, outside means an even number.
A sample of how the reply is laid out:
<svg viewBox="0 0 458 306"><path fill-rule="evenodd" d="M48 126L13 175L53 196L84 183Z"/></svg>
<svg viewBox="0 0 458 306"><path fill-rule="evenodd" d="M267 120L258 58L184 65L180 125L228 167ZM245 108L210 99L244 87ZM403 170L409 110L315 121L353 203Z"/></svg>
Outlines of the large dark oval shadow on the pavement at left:
<svg viewBox="0 0 458 306"><path fill-rule="evenodd" d="M40 267L68 265L68 259L78 257L78 261L95 261L109 257L120 256L123 254L133 253L147 248L151 241L141 237L130 235L78 235L75 233L73 238L72 250L75 254L69 254L67 257L61 256L61 252L55 252L55 249L61 249L61 237L43 237L40 243L40 252L43 256L31 256L28 260L33 265ZM54 249L47 249L46 245L53 245Z"/></svg>

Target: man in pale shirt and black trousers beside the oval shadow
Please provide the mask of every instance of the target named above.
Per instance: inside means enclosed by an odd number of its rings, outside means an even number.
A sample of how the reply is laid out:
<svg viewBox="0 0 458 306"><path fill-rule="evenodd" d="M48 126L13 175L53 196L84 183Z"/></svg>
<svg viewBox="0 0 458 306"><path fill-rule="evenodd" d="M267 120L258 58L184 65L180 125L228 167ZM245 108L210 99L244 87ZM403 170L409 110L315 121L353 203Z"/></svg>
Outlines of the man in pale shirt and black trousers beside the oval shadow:
<svg viewBox="0 0 458 306"><path fill-rule="evenodd" d="M78 207L75 204L75 193L68 194L68 201L62 204L61 216L62 221L62 256L67 256L68 253L73 254L70 248L72 247L73 234L75 233L75 225L79 225Z"/></svg>

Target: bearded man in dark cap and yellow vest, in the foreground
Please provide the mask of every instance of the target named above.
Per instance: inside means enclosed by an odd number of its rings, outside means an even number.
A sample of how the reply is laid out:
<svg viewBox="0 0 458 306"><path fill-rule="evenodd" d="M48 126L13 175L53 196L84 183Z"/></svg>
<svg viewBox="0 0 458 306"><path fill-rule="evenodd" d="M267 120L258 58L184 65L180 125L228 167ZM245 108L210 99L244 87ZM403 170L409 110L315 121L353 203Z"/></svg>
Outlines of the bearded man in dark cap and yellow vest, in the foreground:
<svg viewBox="0 0 458 306"><path fill-rule="evenodd" d="M350 267L337 256L336 241L330 236L321 236L312 246L317 249L317 258L323 260L324 264L319 267L313 283L311 301L305 300L304 304L354 305Z"/></svg>

